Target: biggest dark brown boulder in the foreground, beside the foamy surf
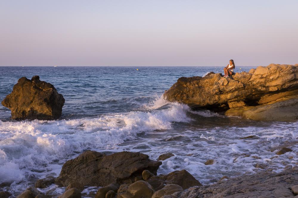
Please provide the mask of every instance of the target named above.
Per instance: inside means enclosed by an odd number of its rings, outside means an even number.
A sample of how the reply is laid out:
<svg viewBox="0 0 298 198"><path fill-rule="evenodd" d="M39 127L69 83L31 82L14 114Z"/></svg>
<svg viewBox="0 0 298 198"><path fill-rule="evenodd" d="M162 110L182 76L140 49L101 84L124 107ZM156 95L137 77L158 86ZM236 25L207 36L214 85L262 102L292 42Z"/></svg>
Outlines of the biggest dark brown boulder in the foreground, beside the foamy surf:
<svg viewBox="0 0 298 198"><path fill-rule="evenodd" d="M66 161L55 183L59 186L71 181L80 181L83 186L133 183L136 176L142 177L145 169L156 175L161 164L142 153L123 151L106 155L89 150Z"/></svg>

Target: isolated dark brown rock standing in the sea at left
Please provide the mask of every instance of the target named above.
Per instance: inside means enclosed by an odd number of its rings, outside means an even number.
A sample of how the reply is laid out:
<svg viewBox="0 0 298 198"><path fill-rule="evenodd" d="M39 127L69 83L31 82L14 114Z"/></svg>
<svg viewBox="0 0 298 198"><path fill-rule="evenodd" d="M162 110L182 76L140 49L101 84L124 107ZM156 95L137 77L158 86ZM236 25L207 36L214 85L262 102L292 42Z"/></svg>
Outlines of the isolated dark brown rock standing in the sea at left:
<svg viewBox="0 0 298 198"><path fill-rule="evenodd" d="M11 110L15 120L55 120L61 116L64 102L52 84L33 76L31 80L20 78L2 105Z"/></svg>

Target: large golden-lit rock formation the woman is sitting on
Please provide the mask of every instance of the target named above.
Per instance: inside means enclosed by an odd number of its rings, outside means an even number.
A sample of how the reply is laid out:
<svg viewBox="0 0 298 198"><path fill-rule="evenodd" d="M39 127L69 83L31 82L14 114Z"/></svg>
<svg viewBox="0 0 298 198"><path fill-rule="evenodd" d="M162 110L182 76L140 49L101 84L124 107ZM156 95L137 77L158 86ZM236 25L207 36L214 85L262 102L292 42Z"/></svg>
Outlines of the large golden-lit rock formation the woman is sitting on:
<svg viewBox="0 0 298 198"><path fill-rule="evenodd" d="M252 120L293 122L298 120L298 64L260 66L230 78L213 72L181 77L164 98Z"/></svg>

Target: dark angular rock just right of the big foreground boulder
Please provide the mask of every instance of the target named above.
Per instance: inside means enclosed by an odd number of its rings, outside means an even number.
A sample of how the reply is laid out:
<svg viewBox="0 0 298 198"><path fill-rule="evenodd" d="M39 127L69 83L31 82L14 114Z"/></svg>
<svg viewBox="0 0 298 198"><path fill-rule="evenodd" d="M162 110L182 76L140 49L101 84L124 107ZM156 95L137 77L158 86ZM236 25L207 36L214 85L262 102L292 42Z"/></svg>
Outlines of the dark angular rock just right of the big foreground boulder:
<svg viewBox="0 0 298 198"><path fill-rule="evenodd" d="M156 191L162 189L167 184L177 184L183 189L202 185L184 169L170 172L167 175L152 176L147 180L147 182L150 183Z"/></svg>

